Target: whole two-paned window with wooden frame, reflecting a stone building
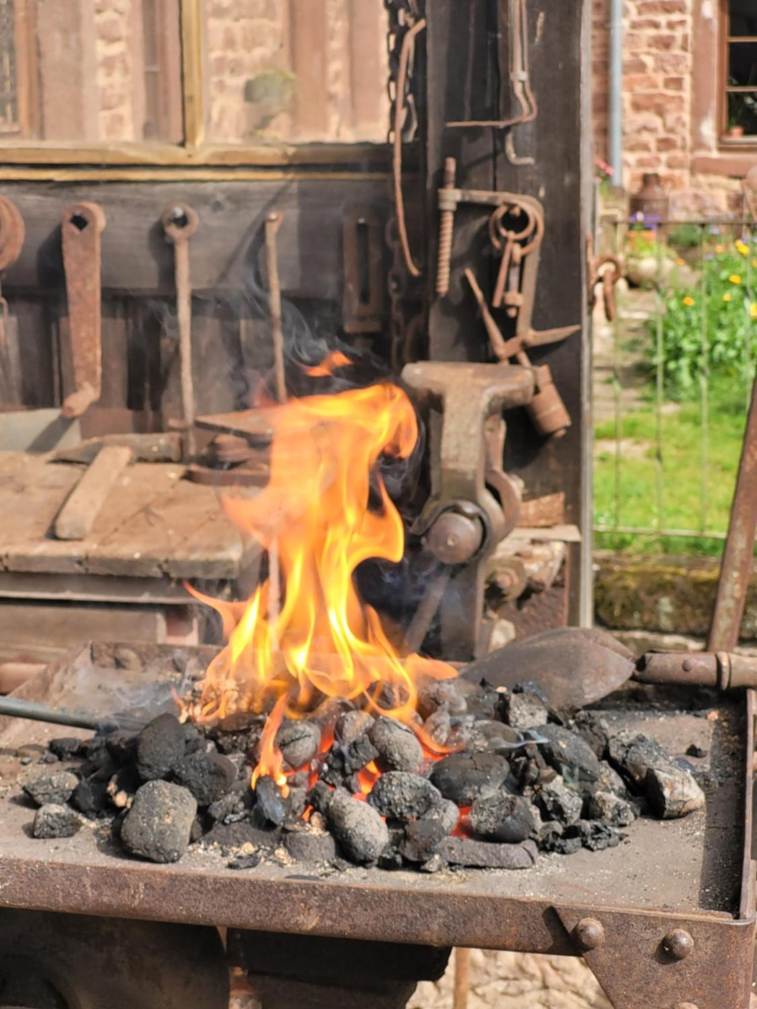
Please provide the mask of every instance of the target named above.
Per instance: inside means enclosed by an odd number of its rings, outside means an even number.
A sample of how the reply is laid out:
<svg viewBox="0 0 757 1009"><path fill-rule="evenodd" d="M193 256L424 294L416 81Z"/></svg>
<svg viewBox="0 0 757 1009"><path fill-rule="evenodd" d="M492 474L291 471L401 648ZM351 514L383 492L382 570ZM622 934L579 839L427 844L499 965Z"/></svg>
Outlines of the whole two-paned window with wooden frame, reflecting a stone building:
<svg viewBox="0 0 757 1009"><path fill-rule="evenodd" d="M388 29L384 0L0 0L0 165L384 167Z"/></svg>

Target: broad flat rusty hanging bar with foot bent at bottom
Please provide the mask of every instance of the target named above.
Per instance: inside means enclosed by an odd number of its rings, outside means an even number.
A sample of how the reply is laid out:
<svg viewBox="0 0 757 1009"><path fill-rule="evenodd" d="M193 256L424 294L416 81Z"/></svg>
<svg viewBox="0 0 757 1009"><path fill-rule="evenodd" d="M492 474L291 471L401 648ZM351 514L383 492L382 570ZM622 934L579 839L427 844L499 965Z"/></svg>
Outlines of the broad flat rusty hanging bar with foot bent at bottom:
<svg viewBox="0 0 757 1009"><path fill-rule="evenodd" d="M102 207L86 201L69 207L61 223L75 385L61 411L68 419L81 417L100 399L103 373L100 235L104 228Z"/></svg>

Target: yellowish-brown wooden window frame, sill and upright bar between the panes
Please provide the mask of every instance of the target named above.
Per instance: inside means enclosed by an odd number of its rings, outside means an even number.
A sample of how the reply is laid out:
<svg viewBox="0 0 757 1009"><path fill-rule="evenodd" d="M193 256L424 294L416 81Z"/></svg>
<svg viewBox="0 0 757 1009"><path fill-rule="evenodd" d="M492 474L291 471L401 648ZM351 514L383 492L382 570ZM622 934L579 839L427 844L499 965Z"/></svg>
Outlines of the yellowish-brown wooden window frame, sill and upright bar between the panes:
<svg viewBox="0 0 757 1009"><path fill-rule="evenodd" d="M386 173L388 143L217 144L205 134L203 0L179 0L184 139L82 144L36 141L0 146L0 180L258 178L260 170L354 165Z"/></svg>

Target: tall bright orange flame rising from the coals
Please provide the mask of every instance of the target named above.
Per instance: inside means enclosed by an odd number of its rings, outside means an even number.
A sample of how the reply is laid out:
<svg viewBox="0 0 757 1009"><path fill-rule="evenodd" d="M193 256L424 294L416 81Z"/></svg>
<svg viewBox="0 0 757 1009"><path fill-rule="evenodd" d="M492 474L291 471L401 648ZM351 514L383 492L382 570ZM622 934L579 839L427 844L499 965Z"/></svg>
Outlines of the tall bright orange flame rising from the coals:
<svg viewBox="0 0 757 1009"><path fill-rule="evenodd" d="M276 745L282 719L301 717L324 696L359 698L362 707L409 724L427 752L438 752L420 727L417 683L455 672L394 645L353 579L368 558L398 563L403 557L402 519L377 463L384 455L412 452L418 427L410 401L384 383L291 400L266 413L268 483L254 498L225 498L224 508L268 551L271 563L278 558L282 598L274 597L279 577L263 581L244 603L191 590L221 614L228 644L186 713L208 721L271 708L253 785L265 774L283 790L285 763Z"/></svg>

